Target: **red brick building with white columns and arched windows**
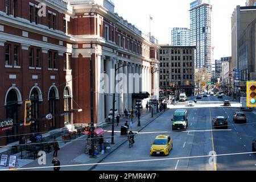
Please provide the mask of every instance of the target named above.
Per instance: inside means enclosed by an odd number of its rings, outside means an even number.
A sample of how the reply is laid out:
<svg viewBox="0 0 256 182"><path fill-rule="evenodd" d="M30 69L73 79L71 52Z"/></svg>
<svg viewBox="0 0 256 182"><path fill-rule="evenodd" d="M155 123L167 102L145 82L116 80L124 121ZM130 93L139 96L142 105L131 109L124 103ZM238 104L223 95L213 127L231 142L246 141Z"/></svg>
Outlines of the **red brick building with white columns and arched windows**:
<svg viewBox="0 0 256 182"><path fill-rule="evenodd" d="M127 75L127 82L121 76L116 80L123 84L116 94L119 113L133 108L138 99L134 88L125 92L133 80L129 73L141 75L139 92L151 94L155 88L158 93L158 75L151 85L151 72L159 64L157 40L114 13L111 1L0 3L0 120L14 121L12 130L0 133L0 137L9 136L0 140L1 145L18 140L20 134L89 123L90 59L95 123L104 122L112 108L113 96L106 94L106 88L113 89L108 79L114 78L115 64L127 65L117 71ZM31 126L22 125L25 100L31 100L33 106ZM48 121L45 117L49 113L54 117Z"/></svg>

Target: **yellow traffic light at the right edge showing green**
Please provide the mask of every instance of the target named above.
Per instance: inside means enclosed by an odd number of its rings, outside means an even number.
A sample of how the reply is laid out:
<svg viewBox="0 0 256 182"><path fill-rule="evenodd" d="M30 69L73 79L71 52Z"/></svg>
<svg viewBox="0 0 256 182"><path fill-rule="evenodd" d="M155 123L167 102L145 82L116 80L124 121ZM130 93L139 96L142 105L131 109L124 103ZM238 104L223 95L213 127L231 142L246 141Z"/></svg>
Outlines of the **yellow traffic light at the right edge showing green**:
<svg viewBox="0 0 256 182"><path fill-rule="evenodd" d="M247 81L247 107L256 107L256 81Z"/></svg>

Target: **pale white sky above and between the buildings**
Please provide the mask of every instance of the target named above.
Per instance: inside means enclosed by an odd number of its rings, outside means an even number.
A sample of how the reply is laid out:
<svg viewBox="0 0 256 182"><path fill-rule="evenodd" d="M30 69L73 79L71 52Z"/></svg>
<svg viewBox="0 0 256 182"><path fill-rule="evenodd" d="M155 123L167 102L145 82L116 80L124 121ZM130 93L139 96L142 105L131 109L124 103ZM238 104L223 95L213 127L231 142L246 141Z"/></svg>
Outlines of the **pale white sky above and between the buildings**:
<svg viewBox="0 0 256 182"><path fill-rule="evenodd" d="M171 44L173 27L190 27L189 4L193 0L112 0L115 13L134 24L144 34L150 32L159 43ZM231 56L231 16L246 0L211 0L212 47L214 59Z"/></svg>

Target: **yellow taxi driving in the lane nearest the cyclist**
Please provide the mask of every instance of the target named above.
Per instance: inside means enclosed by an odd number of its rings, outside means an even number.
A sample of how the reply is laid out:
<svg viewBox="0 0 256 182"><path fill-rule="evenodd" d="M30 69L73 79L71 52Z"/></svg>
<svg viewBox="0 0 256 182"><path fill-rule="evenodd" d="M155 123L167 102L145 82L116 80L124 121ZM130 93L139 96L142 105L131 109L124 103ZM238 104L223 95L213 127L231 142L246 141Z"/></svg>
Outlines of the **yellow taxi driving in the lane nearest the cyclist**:
<svg viewBox="0 0 256 182"><path fill-rule="evenodd" d="M169 155L172 150L172 138L170 135L158 135L151 142L150 155Z"/></svg>

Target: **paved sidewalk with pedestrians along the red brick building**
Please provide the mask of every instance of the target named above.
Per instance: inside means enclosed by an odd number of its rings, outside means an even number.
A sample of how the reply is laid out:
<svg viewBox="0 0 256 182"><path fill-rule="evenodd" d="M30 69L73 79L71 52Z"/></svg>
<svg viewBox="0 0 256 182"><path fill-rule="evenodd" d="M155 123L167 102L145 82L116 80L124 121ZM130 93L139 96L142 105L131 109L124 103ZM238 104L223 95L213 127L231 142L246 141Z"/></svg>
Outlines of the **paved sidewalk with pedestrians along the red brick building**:
<svg viewBox="0 0 256 182"><path fill-rule="evenodd" d="M134 133L137 133L144 129L147 125L149 125L152 121L154 121L156 118L158 118L162 113L156 113L154 114L154 117L151 117L151 112L142 109L141 110L141 127L138 127L138 119L134 118L133 119L133 126L132 130ZM134 114L135 115L135 114ZM130 125L130 120L125 119L125 117L120 118L119 126L115 123L114 125L114 143L110 147L110 152L105 152L104 155L97 155L96 158L92 159L88 154L85 154L85 140L87 138L87 135L82 135L79 138L76 138L75 140L72 140L71 142L66 142L64 143L61 140L61 137L58 137L57 140L59 141L60 145L60 151L58 151L58 156L57 158L60 160L61 166L65 165L77 165L77 164L96 164L102 162L107 156L112 154L113 151L117 150L122 144L127 142L127 137L121 137L121 126L125 124L125 121L128 121ZM105 123L102 128L104 130L108 130L104 134L104 140L108 140L111 143L111 137L112 137L112 122L110 123ZM17 154L18 155L18 154ZM19 154L20 155L20 154ZM18 156L19 156L18 155ZM38 164L38 159L36 160L31 160L31 159L20 159L18 157L18 163L19 166L18 168L26 168L26 167L49 167L53 166L51 163L53 159L53 152L50 152L49 154L46 154L46 165L39 165ZM60 170L61 171L90 171L92 170L96 165L92 166L82 166L82 167L62 167ZM1 167L0 169L3 169L5 167ZM7 168L6 168L7 169ZM42 168L42 169L36 169L36 170L43 170L43 171L52 171L53 168Z"/></svg>

